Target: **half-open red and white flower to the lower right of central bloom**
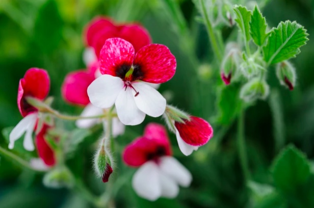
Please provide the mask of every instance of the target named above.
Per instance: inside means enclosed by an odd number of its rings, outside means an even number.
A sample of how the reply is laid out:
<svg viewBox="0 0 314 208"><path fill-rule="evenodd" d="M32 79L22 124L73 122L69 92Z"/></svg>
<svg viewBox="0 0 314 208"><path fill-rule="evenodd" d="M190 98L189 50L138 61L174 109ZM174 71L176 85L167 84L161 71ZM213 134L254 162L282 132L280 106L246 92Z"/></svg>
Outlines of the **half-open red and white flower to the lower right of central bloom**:
<svg viewBox="0 0 314 208"><path fill-rule="evenodd" d="M189 155L213 137L211 124L202 118L190 116L185 123L174 122L176 138L182 153Z"/></svg>

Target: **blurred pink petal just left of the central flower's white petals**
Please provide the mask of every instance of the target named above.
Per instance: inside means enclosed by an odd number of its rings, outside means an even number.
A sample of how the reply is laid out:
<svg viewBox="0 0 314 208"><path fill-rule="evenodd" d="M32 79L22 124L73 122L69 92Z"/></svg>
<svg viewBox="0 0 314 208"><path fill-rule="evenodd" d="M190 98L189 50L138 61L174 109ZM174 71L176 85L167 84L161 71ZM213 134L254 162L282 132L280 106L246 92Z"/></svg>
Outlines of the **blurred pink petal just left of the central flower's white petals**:
<svg viewBox="0 0 314 208"><path fill-rule="evenodd" d="M63 98L72 104L88 105L87 88L94 80L95 75L84 70L67 74L61 88Z"/></svg>

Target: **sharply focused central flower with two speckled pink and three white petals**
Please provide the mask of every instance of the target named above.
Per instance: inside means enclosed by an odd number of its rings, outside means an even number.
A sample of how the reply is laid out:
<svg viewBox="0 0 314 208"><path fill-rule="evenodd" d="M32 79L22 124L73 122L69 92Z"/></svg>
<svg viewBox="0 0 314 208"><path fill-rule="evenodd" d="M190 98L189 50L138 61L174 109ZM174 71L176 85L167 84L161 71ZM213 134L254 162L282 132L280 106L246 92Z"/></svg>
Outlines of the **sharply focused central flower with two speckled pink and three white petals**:
<svg viewBox="0 0 314 208"><path fill-rule="evenodd" d="M87 89L94 106L110 108L115 104L125 125L140 124L145 114L159 117L164 113L166 99L147 83L164 83L174 75L176 60L166 46L146 45L135 54L131 43L110 38L103 45L100 62L103 75Z"/></svg>

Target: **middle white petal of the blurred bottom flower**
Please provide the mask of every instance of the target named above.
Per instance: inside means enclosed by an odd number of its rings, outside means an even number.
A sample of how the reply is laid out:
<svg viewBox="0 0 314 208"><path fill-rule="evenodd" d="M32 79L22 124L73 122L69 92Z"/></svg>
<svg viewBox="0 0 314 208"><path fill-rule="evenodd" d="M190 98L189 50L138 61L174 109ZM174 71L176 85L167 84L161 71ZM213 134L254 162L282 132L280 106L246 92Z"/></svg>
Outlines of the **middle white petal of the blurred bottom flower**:
<svg viewBox="0 0 314 208"><path fill-rule="evenodd" d="M162 196L167 198L174 198L179 193L179 187L175 180L165 173L160 171L160 182L162 188Z"/></svg>

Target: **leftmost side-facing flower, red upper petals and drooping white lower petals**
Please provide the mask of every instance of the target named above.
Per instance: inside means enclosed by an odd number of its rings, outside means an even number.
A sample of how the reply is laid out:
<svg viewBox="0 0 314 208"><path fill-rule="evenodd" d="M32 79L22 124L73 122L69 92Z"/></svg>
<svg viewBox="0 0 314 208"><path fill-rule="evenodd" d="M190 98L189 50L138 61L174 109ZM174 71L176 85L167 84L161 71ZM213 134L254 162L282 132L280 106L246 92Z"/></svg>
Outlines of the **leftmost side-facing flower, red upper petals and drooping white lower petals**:
<svg viewBox="0 0 314 208"><path fill-rule="evenodd" d="M9 148L13 149L14 142L19 139L25 132L23 146L29 151L35 149L32 133L34 131L38 110L31 106L25 97L30 96L43 100L50 88L50 80L46 70L39 68L30 68L20 80L17 94L17 106L24 117L12 130L9 136Z"/></svg>

